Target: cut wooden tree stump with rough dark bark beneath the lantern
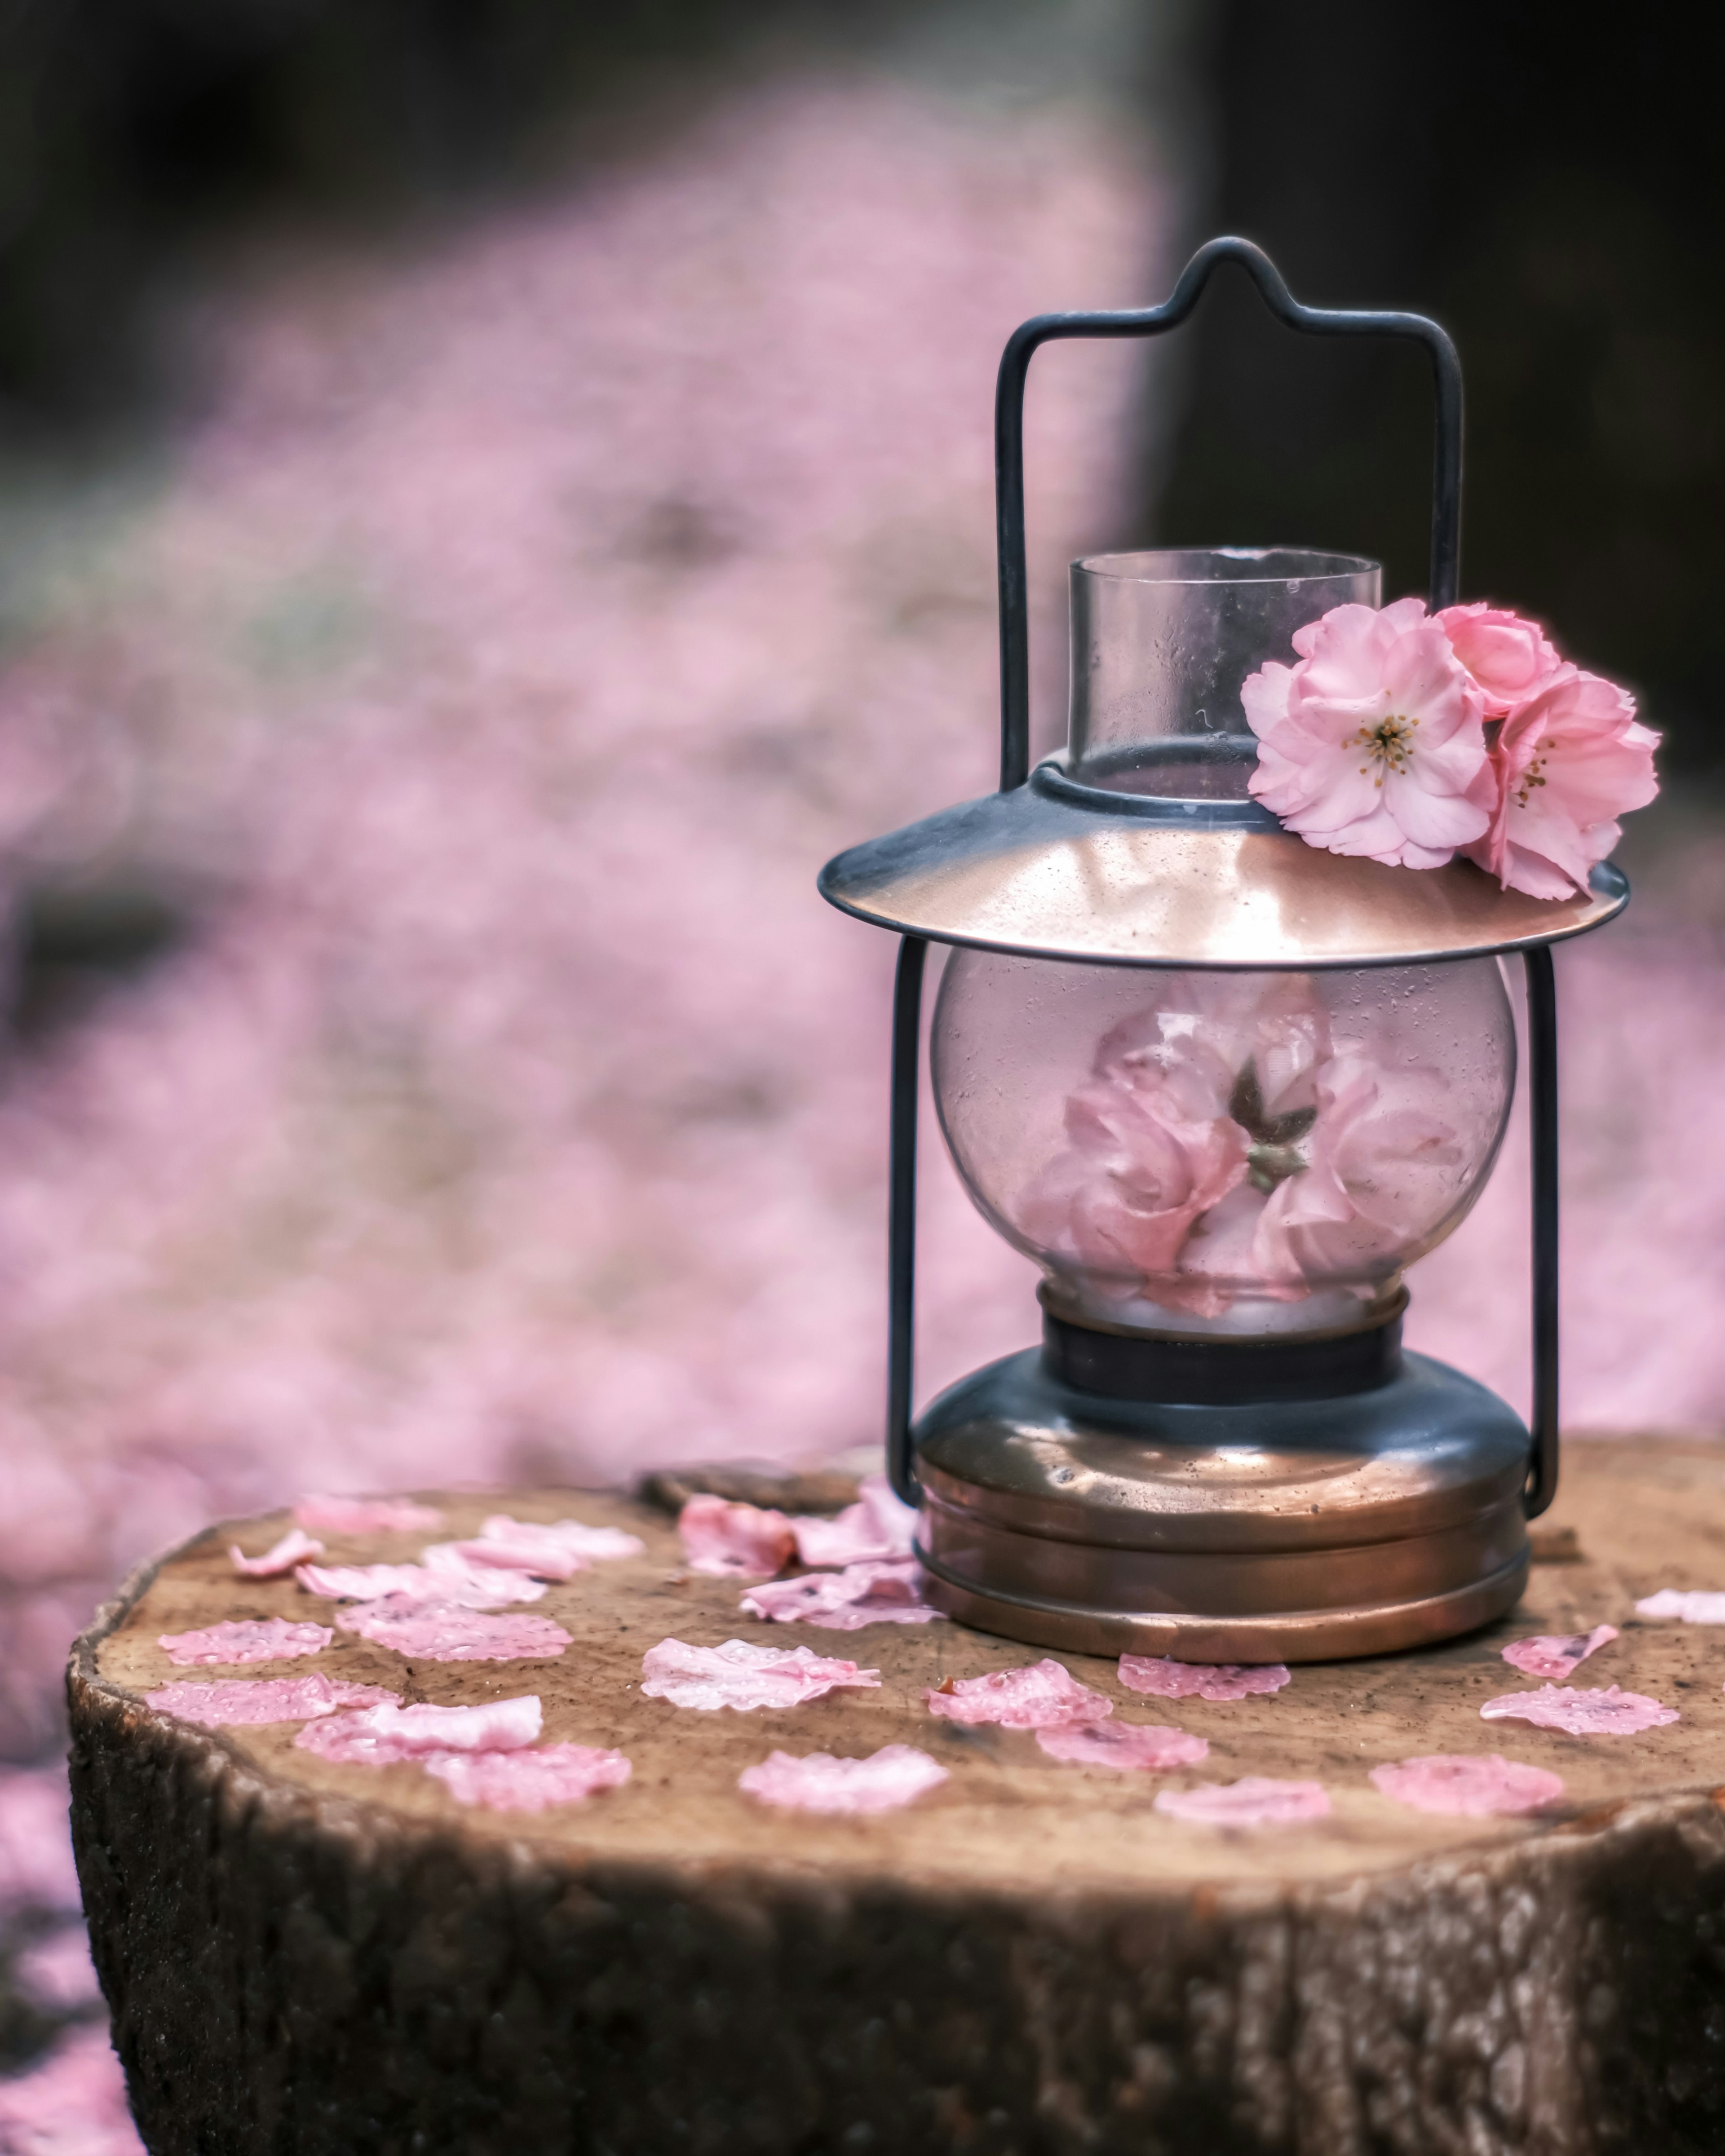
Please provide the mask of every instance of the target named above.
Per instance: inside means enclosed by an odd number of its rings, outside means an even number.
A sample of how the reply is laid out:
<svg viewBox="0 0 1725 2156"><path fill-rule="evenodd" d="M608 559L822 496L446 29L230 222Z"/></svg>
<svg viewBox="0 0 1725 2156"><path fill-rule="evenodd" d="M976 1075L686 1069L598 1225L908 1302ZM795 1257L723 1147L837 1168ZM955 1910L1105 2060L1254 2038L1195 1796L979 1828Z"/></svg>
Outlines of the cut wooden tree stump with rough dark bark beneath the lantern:
<svg viewBox="0 0 1725 2156"><path fill-rule="evenodd" d="M446 1498L470 1531L498 1501ZM323 1617L237 1580L226 1533L142 1574L78 1643L73 1830L95 1958L157 2156L1701 2156L1725 2150L1725 1630L1645 1623L1656 1587L1725 1589L1725 1453L1581 1445L1514 1617L1272 1697L1154 1701L1065 1656L1117 1716L1177 1723L1177 1777L1061 1766L1029 1733L936 1723L947 1677L1037 1660L953 1623L819 1632L737 1613L664 1514L586 1492L522 1518L627 1524L649 1552L552 1587L552 1662L403 1662L336 1632L317 1662L172 1671L157 1634ZM285 1520L257 1522L261 1548ZM330 1561L427 1539L326 1537ZM1531 1688L1499 1649L1617 1623L1576 1684L1682 1710L1634 1738L1481 1723ZM787 1712L638 1690L664 1636L811 1645L882 1673ZM546 1736L617 1744L634 1781L494 1815L414 1766L347 1768L293 1727L201 1731L144 1705L175 1675L539 1692ZM770 1811L772 1749L919 1744L951 1779L908 1811ZM1445 1820L1367 1770L1499 1751L1552 1768L1533 1820ZM1333 1818L1218 1833L1169 1781L1317 1779Z"/></svg>

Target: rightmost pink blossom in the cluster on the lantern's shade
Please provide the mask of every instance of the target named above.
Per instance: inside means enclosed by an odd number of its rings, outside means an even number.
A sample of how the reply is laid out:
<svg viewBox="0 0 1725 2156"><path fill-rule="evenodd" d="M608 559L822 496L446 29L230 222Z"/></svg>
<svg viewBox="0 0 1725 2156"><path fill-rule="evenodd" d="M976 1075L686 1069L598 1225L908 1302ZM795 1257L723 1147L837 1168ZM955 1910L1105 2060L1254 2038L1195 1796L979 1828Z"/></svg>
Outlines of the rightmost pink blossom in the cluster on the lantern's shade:
<svg viewBox="0 0 1725 2156"><path fill-rule="evenodd" d="M1492 748L1499 798L1488 830L1464 847L1505 890L1568 899L1617 845L1617 817L1658 793L1658 735L1634 716L1634 696L1559 666L1503 720Z"/></svg>

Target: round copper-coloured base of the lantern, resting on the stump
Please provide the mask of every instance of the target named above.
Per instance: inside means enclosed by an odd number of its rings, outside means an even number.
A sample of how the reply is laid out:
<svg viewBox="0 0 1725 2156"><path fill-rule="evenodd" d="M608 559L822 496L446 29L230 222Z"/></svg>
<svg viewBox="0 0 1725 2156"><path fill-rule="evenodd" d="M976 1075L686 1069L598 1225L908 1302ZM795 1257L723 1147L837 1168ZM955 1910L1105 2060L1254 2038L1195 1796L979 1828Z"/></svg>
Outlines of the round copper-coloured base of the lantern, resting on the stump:
<svg viewBox="0 0 1725 2156"><path fill-rule="evenodd" d="M1078 1654L1328 1662L1430 1645L1527 1583L1531 1440L1486 1386L1406 1354L1339 1399L1110 1399L1041 1350L916 1425L929 1600Z"/></svg>

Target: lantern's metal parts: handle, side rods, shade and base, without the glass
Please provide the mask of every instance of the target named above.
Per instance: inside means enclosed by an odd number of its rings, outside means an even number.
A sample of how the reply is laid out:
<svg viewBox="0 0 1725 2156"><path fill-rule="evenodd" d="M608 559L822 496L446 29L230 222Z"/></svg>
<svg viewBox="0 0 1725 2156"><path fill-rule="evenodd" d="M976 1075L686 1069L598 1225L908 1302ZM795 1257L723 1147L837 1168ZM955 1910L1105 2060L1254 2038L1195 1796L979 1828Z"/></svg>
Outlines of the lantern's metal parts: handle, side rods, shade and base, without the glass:
<svg viewBox="0 0 1725 2156"><path fill-rule="evenodd" d="M1201 248L1158 308L1044 315L996 397L1000 791L839 854L819 888L901 936L893 998L888 1470L921 1507L936 1606L1078 1651L1326 1660L1443 1639L1520 1595L1527 1520L1557 1488L1557 994L1550 944L1611 921L1624 875L1548 903L1477 867L1391 869L1281 830L1251 798L1182 798L1218 744L1169 740L1132 791L1029 770L1022 403L1050 338L1151 336L1242 265L1296 330L1412 338L1436 386L1432 606L1455 602L1462 379L1419 315L1300 306L1244 239ZM1231 750L1238 755L1238 748ZM1156 757L1151 755L1151 763ZM1089 776L1089 774L1087 774ZM1240 776L1238 772L1233 774ZM1236 785L1233 791L1244 793ZM949 1386L912 1425L916 1106L929 942L1128 968L1330 970L1516 953L1533 1138L1533 1425L1425 1356L1391 1296L1296 1341L1078 1324L1044 1291L1041 1350Z"/></svg>

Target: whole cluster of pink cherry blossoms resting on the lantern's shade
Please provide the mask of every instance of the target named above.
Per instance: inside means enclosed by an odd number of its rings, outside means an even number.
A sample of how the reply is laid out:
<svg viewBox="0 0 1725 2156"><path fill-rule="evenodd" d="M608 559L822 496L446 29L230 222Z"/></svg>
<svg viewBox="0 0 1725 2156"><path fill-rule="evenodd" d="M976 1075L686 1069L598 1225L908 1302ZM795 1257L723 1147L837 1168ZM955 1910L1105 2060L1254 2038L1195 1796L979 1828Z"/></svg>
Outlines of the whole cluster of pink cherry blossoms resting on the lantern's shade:
<svg viewBox="0 0 1725 2156"><path fill-rule="evenodd" d="M1251 791L1330 854L1440 869L1455 854L1505 890L1568 899L1658 793L1658 735L1634 696L1563 660L1533 621L1421 599L1337 606L1294 634L1242 703Z"/></svg>

